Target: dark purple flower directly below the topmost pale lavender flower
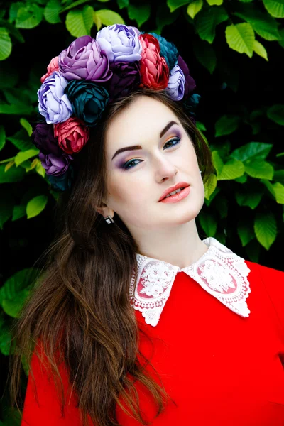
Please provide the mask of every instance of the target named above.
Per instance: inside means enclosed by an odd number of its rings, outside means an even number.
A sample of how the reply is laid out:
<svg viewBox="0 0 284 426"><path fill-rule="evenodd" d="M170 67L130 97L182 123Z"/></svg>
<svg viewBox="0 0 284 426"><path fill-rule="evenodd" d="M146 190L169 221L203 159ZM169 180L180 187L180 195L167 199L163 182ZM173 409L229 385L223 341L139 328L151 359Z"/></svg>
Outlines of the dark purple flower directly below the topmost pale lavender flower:
<svg viewBox="0 0 284 426"><path fill-rule="evenodd" d="M140 73L138 62L111 62L113 72L107 91L109 92L109 102L116 97L124 97L140 83Z"/></svg>

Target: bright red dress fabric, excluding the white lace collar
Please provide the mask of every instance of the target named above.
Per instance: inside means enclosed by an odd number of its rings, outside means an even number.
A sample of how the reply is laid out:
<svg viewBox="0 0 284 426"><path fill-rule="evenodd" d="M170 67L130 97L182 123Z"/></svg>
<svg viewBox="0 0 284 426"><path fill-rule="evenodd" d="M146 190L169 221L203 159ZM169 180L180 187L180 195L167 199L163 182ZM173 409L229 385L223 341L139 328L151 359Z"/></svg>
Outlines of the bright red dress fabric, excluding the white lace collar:
<svg viewBox="0 0 284 426"><path fill-rule="evenodd" d="M140 349L160 374L177 406L168 403L154 419L155 405L139 383L141 410L151 425L283 426L284 425L284 273L246 261L251 269L251 314L241 317L222 305L184 272L175 283L156 327L136 311ZM31 364L38 387L35 403L31 376L21 426L80 426L75 398L60 416L52 383ZM152 371L149 367L149 371ZM156 377L156 376L155 376ZM67 392L67 373L62 369ZM139 425L117 409L123 426Z"/></svg>

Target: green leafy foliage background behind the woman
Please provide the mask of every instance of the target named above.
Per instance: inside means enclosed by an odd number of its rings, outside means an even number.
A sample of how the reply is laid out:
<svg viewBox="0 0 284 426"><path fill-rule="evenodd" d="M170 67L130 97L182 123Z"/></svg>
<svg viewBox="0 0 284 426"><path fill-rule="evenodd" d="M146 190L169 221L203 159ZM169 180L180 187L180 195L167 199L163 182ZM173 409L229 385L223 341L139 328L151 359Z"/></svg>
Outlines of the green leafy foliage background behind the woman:
<svg viewBox="0 0 284 426"><path fill-rule="evenodd" d="M201 94L197 126L216 173L197 217L253 262L283 270L284 0L5 1L0 9L0 357L53 238L58 194L31 143L40 77L75 37L126 23L177 46ZM23 366L26 374L28 367ZM23 389L26 376L23 377ZM2 425L20 425L4 391Z"/></svg>

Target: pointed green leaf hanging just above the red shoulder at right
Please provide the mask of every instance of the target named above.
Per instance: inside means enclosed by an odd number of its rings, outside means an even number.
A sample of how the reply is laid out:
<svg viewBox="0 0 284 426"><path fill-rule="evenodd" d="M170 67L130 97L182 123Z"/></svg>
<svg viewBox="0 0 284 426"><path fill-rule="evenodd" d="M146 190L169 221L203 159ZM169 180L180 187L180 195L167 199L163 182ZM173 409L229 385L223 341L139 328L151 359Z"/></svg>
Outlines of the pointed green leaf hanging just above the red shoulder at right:
<svg viewBox="0 0 284 426"><path fill-rule="evenodd" d="M277 235L277 224L273 212L256 212L254 232L261 246L269 250Z"/></svg>

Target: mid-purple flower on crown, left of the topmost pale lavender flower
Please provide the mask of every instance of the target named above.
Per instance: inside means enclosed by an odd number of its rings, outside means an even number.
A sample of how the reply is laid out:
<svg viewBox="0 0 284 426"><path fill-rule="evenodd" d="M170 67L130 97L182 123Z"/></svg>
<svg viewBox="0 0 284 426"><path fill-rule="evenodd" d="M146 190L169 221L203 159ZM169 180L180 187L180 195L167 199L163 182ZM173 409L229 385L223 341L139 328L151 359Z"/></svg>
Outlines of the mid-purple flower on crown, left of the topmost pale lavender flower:
<svg viewBox="0 0 284 426"><path fill-rule="evenodd" d="M59 70L67 80L106 82L111 78L109 58L89 35L76 38L58 56Z"/></svg>

